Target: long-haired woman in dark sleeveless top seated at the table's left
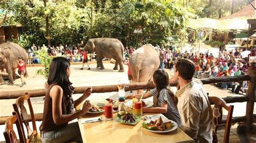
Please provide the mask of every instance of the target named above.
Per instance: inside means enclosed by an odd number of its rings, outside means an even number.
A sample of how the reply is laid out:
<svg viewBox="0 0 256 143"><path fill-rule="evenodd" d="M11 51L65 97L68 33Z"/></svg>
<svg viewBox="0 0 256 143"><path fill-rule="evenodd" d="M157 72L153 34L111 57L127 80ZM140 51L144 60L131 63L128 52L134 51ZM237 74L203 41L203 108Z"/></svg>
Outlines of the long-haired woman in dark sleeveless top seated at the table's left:
<svg viewBox="0 0 256 143"><path fill-rule="evenodd" d="M53 58L47 83L49 85L44 101L43 122L41 125L43 142L83 142L78 123L68 124L69 121L83 116L90 108L89 101L85 101L83 109L75 112L75 107L91 95L91 89L73 101L75 88L69 81L71 74L70 62L63 57Z"/></svg>

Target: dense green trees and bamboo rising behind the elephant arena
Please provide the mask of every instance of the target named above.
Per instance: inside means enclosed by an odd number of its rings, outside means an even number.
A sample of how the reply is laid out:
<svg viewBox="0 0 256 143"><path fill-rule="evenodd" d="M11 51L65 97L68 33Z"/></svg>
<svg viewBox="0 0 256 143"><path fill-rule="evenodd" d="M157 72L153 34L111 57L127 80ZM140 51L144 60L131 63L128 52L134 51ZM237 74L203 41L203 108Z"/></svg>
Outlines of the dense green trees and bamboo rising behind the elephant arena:
<svg viewBox="0 0 256 143"><path fill-rule="evenodd" d="M52 45L78 44L89 38L117 38L125 46L137 45L137 40L145 44L167 42L172 35L178 41L186 40L188 17L218 18L231 13L232 1L210 0L143 0L144 8L134 9L135 0L70 0L47 2L6 0L0 2L1 9L8 10L5 24L23 26L23 47L31 44L46 45L46 16L49 17L49 31ZM247 2L234 1L234 12ZM91 10L93 9L93 10ZM91 13L92 12L92 13ZM0 14L0 18L3 14ZM137 34L134 31L142 30ZM137 38L138 36L138 38ZM10 39L15 41L14 39ZM17 41L16 41L17 42Z"/></svg>

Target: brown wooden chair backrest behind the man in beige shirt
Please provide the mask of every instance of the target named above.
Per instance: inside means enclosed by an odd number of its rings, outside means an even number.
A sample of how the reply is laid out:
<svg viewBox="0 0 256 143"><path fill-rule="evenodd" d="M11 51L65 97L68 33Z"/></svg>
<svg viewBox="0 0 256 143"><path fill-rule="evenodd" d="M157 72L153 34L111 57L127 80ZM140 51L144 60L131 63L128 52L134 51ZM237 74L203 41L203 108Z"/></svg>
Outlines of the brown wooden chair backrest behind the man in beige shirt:
<svg viewBox="0 0 256 143"><path fill-rule="evenodd" d="M229 142L231 119L232 119L234 105L227 105L227 103L219 97L208 96L208 98L209 98L209 101L212 101L214 103L213 131L215 133L215 137L217 137L218 126L221 125L221 120L222 120L222 116L223 116L222 109L224 108L228 111L226 125L225 125L224 142Z"/></svg>

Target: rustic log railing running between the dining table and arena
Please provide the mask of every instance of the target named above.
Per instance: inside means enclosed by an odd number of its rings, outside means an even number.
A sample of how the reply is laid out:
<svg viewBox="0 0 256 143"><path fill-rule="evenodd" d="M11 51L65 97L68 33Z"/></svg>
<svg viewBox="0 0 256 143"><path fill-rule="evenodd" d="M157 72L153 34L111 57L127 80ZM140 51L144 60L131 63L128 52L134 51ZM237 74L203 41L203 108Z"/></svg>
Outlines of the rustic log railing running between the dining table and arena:
<svg viewBox="0 0 256 143"><path fill-rule="evenodd" d="M252 121L256 117L253 115L254 102L255 102L255 89L256 89L256 70L248 69L248 75L240 76L225 76L225 77L210 77L210 78L201 78L203 84L211 83L220 83L220 82L240 82L240 81L249 81L248 90L246 96L241 97L225 97L223 98L227 103L235 102L247 102L246 104L246 116L234 117L232 118L232 123L237 123L241 121L246 121L246 130L251 132L252 130ZM138 90L138 89L153 89L154 85L152 82L147 83L132 83L132 84L121 84L122 86L128 86L125 88L126 91ZM177 83L170 83L171 86L176 86ZM76 87L73 94L83 94L88 87ZM92 93L99 92L113 92L118 91L117 85L103 85L92 87ZM1 91L0 99L16 99L19 96L25 95L28 92L30 97L42 97L45 96L45 89L36 89L36 90L23 90L23 91ZM214 96L214 95L210 95ZM4 124L4 120L7 117L0 117L0 125ZM42 120L42 113L36 114L36 120ZM225 120L224 120L225 121Z"/></svg>

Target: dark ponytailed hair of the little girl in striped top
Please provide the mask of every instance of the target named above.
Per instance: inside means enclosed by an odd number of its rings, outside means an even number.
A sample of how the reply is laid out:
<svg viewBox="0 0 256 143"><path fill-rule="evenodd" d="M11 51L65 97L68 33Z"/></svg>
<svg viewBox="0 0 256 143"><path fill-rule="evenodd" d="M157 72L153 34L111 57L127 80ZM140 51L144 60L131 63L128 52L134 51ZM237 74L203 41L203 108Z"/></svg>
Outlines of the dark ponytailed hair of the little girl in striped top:
<svg viewBox="0 0 256 143"><path fill-rule="evenodd" d="M154 71L153 80L157 86L157 98L159 97L160 91L166 88L169 91L169 95L172 97L174 103L177 105L178 98L170 90L168 73L163 69L157 69Z"/></svg>

